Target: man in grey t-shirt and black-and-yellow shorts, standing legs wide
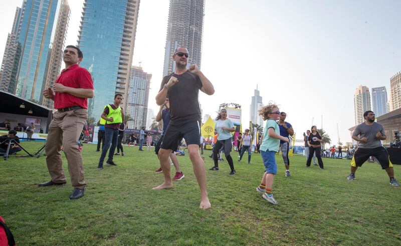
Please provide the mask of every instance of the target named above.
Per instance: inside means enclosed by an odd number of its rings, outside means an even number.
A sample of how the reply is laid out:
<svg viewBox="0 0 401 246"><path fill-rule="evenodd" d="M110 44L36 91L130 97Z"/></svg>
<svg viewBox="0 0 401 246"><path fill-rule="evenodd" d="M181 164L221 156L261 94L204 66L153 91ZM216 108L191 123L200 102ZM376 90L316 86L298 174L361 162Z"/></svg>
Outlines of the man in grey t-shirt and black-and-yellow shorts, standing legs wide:
<svg viewBox="0 0 401 246"><path fill-rule="evenodd" d="M380 140L386 138L383 126L374 122L374 112L370 110L363 113L363 118L365 119L365 122L356 126L356 129L352 134L352 139L358 141L359 146L352 158L351 174L347 176L347 179L355 179L355 171L358 166L362 166L369 156L374 156L377 162L381 165L381 169L384 169L387 172L388 177L390 178L390 184L399 186L394 178L394 170L388 152L381 145Z"/></svg>

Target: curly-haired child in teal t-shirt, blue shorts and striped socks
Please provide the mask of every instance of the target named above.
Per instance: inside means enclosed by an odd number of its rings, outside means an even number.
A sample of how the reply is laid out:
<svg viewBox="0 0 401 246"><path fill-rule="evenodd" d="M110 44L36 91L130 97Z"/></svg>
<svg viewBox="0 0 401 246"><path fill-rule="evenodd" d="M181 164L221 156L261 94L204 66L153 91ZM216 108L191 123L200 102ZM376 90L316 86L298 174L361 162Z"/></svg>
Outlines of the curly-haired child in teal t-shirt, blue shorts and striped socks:
<svg viewBox="0 0 401 246"><path fill-rule="evenodd" d="M262 197L270 203L278 204L272 194L274 175L277 174L276 153L279 151L280 140L289 142L289 139L280 135L280 128L276 122L280 118L280 111L276 104L269 103L259 108L258 112L263 120L266 120L266 127L263 131L260 145L260 153L266 171L256 191L262 193Z"/></svg>

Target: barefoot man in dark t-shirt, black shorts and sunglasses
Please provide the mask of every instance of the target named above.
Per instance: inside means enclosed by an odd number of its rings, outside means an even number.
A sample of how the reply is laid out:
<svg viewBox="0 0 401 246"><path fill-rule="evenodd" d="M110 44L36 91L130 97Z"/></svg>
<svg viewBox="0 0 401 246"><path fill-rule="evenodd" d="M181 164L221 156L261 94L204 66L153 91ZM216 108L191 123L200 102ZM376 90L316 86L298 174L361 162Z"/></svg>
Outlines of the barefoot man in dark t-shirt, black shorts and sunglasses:
<svg viewBox="0 0 401 246"><path fill-rule="evenodd" d="M206 189L205 162L198 151L200 139L198 93L201 90L208 95L212 95L215 93L215 88L196 64L191 64L188 69L186 68L188 56L188 50L185 47L177 47L174 50L172 59L175 61L175 71L163 77L160 91L156 95L156 103L161 105L168 94L171 118L159 150L164 182L153 189L172 187L168 156L172 150L177 149L178 142L184 137L200 188L199 207L207 209L211 204Z"/></svg>

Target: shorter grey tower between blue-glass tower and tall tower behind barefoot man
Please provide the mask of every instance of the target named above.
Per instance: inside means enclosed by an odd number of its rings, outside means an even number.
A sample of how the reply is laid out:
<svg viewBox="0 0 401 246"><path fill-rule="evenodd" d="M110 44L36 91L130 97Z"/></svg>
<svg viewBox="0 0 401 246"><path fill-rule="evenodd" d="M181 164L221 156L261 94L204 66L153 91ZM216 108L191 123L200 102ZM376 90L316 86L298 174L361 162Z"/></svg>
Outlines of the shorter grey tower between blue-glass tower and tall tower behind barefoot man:
<svg viewBox="0 0 401 246"><path fill-rule="evenodd" d="M142 67L132 66L126 109L132 120L128 121L128 128L139 129L146 126L151 78L152 74L144 72Z"/></svg>

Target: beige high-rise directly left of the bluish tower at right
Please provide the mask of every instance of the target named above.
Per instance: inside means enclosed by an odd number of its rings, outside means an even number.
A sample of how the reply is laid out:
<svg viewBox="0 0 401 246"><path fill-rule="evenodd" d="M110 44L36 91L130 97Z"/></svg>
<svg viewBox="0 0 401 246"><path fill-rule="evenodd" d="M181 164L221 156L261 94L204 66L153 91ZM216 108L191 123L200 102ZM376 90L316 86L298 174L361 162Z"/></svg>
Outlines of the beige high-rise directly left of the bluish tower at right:
<svg viewBox="0 0 401 246"><path fill-rule="evenodd" d="M354 93L355 125L364 121L363 113L371 110L369 88L359 85Z"/></svg>

